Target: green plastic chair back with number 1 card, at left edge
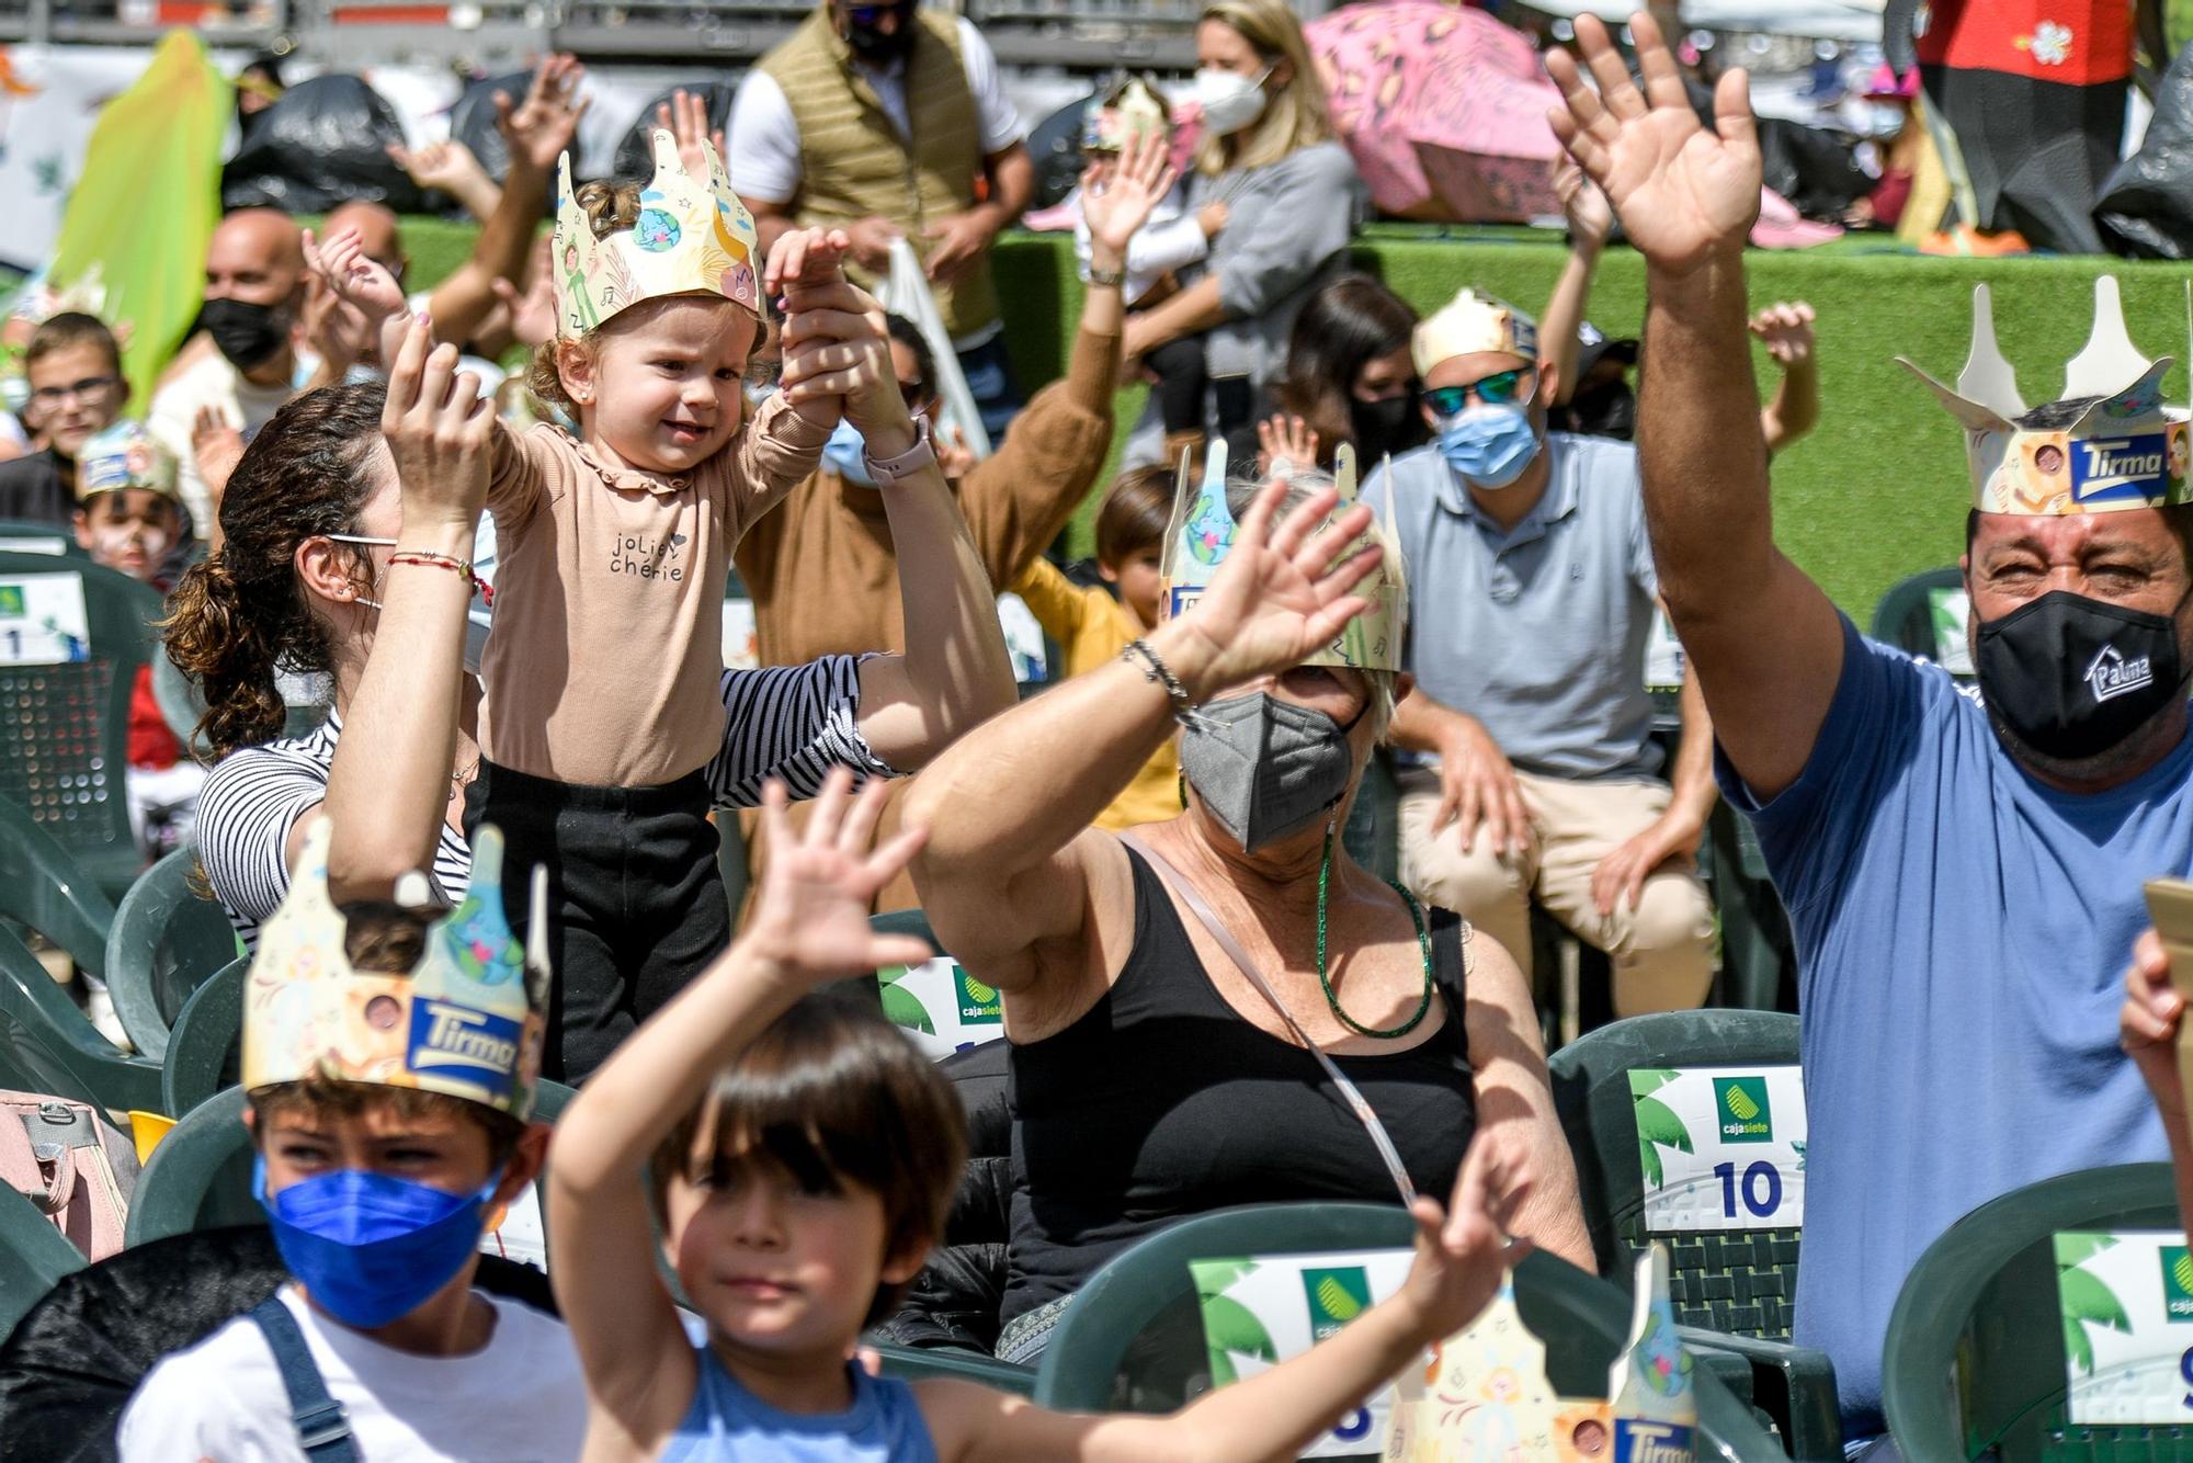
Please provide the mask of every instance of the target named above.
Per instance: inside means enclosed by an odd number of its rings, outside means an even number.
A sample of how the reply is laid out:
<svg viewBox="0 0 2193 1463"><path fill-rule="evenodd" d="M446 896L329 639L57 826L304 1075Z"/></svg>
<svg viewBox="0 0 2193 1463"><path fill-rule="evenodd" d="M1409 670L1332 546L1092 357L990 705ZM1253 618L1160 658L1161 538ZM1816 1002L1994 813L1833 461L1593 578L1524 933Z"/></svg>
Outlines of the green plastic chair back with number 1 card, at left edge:
<svg viewBox="0 0 2193 1463"><path fill-rule="evenodd" d="M129 831L129 695L156 649L160 594L96 564L0 553L0 577L68 572L83 581L88 658L0 665L0 796L24 807L118 899L145 858Z"/></svg>

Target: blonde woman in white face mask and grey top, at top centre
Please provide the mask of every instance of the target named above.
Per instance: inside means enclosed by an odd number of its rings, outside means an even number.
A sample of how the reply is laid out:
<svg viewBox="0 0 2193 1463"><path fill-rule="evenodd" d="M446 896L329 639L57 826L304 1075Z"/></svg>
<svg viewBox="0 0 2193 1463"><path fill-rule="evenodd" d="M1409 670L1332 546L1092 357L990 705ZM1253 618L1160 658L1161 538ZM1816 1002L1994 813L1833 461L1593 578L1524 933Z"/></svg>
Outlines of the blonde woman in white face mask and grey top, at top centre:
<svg viewBox="0 0 2193 1463"><path fill-rule="evenodd" d="M1261 393L1287 364L1303 303L1347 268L1364 186L1325 114L1325 83L1285 0L1215 0L1195 26L1204 140L1189 206L1224 204L1211 257L1164 303L1127 318L1125 355L1206 336L1215 421L1257 452ZM1136 456L1147 456L1138 452Z"/></svg>

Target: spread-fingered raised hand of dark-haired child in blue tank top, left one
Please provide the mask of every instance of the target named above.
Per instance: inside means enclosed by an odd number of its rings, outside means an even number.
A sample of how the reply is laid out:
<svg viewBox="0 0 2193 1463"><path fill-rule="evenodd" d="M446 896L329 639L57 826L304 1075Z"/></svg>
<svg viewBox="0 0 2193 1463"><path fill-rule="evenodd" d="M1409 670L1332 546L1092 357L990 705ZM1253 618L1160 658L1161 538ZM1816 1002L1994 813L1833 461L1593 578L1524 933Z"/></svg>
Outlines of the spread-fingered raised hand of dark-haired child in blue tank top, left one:
<svg viewBox="0 0 2193 1463"><path fill-rule="evenodd" d="M770 869L739 941L779 976L803 987L857 976L882 965L919 965L928 943L912 934L877 934L868 904L912 860L928 829L906 829L871 851L875 823L890 787L871 781L853 794L853 774L838 768L822 783L805 831L785 816L785 785L761 794L761 827Z"/></svg>

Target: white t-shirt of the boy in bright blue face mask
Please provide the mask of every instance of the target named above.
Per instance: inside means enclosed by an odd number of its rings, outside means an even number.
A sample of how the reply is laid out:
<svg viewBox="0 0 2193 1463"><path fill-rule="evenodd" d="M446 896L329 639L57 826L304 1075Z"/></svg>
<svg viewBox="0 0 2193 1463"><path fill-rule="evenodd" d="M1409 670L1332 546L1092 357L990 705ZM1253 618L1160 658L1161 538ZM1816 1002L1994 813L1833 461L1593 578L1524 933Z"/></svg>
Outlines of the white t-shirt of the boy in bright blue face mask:
<svg viewBox="0 0 2193 1463"><path fill-rule="evenodd" d="M482 1292L474 1292L482 1294ZM364 1463L561 1463L586 1441L586 1377L570 1331L515 1301L496 1307L487 1347L428 1358L390 1351L325 1320L296 1285L283 1305L305 1331L329 1397ZM175 1351L138 1386L121 1421L123 1463L305 1463L289 1393L265 1334L237 1316Z"/></svg>

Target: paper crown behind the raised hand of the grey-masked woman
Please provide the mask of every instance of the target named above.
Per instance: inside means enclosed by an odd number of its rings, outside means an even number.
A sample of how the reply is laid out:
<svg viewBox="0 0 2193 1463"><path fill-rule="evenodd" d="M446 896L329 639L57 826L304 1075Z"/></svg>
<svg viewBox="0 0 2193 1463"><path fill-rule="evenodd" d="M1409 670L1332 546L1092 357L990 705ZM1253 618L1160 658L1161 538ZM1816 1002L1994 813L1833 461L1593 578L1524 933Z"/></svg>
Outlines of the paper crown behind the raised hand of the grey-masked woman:
<svg viewBox="0 0 2193 1463"><path fill-rule="evenodd" d="M1292 469L1287 458L1272 463L1272 474ZM1355 447L1340 443L1333 454L1333 483L1340 502L1338 518L1355 504ZM1246 485L1237 491L1246 491ZM1160 572L1164 594L1160 608L1164 616L1184 614L1202 599L1235 542L1235 515L1226 502L1226 443L1211 443L1204 458L1204 480L1189 478L1189 456L1180 454L1180 480L1173 489L1173 520L1164 531L1164 557ZM1322 533L1325 529L1318 529ZM1303 665L1347 665L1357 671L1399 671L1401 638L1408 632L1408 581L1401 568L1401 540L1393 531L1393 500L1386 502L1386 522L1373 524L1360 546L1384 544L1386 555L1368 579L1355 586L1355 594L1371 601L1371 608L1349 621L1340 638L1325 649L1305 656Z"/></svg>

